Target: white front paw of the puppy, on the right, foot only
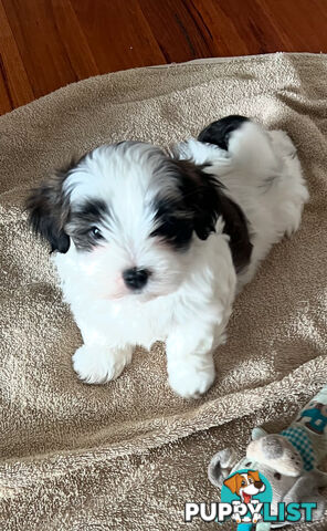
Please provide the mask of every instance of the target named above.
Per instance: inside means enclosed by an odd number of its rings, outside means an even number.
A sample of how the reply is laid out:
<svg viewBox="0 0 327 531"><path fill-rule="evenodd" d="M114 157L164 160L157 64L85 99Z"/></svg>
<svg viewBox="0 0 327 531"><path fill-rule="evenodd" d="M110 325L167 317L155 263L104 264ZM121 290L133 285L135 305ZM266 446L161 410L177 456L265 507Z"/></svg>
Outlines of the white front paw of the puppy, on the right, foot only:
<svg viewBox="0 0 327 531"><path fill-rule="evenodd" d="M170 387L183 398L198 398L211 387L214 382L214 365L205 368L187 365L175 365L169 372Z"/></svg>

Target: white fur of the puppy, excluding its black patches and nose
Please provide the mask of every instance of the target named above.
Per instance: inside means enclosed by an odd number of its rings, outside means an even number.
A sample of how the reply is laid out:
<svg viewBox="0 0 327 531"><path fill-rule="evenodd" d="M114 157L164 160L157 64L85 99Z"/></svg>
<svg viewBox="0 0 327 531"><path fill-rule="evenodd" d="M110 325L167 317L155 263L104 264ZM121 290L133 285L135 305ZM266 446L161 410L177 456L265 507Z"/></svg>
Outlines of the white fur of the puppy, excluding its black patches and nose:
<svg viewBox="0 0 327 531"><path fill-rule="evenodd" d="M187 252L149 237L152 197L161 188L166 196L173 194L164 180L154 180L151 149L137 144L122 154L103 146L71 170L64 187L72 207L101 198L114 207L114 216L102 227L102 246L83 252L71 241L54 262L84 341L73 355L80 378L116 378L135 345L150 347L162 340L170 386L188 398L212 385L212 351L225 339L235 293L273 243L298 228L308 192L295 147L283 132L246 122L231 135L228 152L196 139L177 146L180 159L210 163L204 171L217 175L249 220L253 252L236 275L222 217L207 240L193 236ZM122 278L135 266L152 271L138 294Z"/></svg>

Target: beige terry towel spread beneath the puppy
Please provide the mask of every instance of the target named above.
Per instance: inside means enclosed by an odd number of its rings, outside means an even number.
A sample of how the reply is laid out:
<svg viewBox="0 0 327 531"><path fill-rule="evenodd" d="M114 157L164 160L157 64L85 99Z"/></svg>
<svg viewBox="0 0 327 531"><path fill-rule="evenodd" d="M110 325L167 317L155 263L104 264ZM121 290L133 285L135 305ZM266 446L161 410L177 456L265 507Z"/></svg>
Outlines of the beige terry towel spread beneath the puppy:
<svg viewBox="0 0 327 531"><path fill-rule="evenodd" d="M28 188L101 143L167 145L230 113L292 136L312 196L300 230L239 296L203 398L170 391L161 344L118 381L82 384L80 333L21 210ZM326 383L326 135L327 56L313 54L97 76L0 118L1 530L179 530L186 501L218 501L212 454L241 450L260 423L281 429Z"/></svg>

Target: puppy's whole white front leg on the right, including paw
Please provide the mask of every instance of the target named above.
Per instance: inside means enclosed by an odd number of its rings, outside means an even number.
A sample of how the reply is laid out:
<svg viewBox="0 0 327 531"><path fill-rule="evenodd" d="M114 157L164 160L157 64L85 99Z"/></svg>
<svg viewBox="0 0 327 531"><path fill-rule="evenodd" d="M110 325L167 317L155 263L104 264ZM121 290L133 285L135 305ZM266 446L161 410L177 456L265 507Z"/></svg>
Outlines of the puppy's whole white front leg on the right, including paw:
<svg viewBox="0 0 327 531"><path fill-rule="evenodd" d="M183 398L205 393L214 381L214 333L204 327L178 326L167 339L167 369L172 389Z"/></svg>

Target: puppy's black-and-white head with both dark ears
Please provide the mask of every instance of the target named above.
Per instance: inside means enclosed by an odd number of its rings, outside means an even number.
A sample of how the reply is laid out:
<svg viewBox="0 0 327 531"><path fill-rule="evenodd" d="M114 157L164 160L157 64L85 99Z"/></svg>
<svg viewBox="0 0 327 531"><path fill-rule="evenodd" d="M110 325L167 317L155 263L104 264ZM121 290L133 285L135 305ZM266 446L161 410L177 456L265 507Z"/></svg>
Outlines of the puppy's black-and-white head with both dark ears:
<svg viewBox="0 0 327 531"><path fill-rule="evenodd" d="M214 231L219 183L148 144L101 146L55 173L28 199L30 223L70 252L97 295L146 299L175 291L193 241Z"/></svg>

